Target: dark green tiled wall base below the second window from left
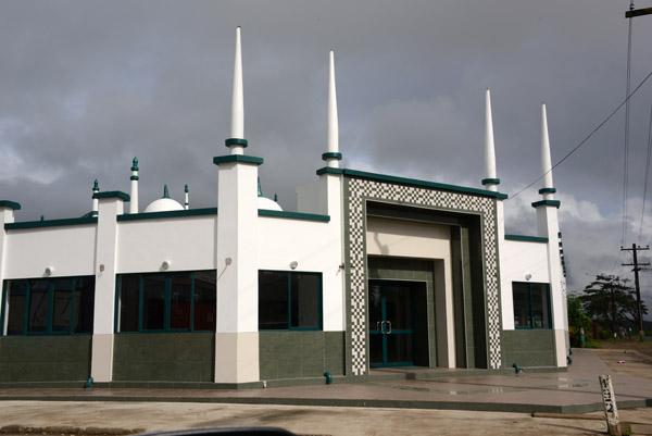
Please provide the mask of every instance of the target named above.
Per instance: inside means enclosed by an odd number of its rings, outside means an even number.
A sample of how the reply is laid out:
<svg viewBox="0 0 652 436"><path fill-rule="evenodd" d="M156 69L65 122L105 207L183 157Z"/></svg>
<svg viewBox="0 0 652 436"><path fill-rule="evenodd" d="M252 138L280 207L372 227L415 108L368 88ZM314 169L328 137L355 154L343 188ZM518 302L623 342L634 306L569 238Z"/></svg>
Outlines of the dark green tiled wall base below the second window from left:
<svg viewBox="0 0 652 436"><path fill-rule="evenodd" d="M214 333L114 336L115 382L213 382Z"/></svg>

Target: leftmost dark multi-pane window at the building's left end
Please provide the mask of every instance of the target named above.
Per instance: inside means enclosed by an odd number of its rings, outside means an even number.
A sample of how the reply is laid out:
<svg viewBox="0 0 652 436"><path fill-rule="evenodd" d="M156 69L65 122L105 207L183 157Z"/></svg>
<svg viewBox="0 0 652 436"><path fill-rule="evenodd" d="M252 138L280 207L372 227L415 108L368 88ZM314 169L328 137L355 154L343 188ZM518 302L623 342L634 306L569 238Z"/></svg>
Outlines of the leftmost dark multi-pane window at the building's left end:
<svg viewBox="0 0 652 436"><path fill-rule="evenodd" d="M7 335L92 333L95 277L4 282Z"/></svg>

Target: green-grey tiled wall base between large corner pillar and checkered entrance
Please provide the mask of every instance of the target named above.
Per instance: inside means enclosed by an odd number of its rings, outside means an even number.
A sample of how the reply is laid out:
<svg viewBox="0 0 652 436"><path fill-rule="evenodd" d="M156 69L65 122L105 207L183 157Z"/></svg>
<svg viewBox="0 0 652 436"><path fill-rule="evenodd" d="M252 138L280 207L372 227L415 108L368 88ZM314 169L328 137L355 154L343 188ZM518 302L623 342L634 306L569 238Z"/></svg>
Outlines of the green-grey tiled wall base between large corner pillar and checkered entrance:
<svg viewBox="0 0 652 436"><path fill-rule="evenodd" d="M344 373L343 332L260 332L261 379Z"/></svg>

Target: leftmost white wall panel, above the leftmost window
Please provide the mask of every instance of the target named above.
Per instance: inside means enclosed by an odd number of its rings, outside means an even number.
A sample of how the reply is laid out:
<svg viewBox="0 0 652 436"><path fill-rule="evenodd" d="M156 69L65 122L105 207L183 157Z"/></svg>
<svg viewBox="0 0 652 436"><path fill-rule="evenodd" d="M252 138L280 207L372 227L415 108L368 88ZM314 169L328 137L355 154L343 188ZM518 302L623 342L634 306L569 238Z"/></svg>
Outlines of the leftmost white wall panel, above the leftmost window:
<svg viewBox="0 0 652 436"><path fill-rule="evenodd" d="M95 247L95 224L7 231L3 278L92 275Z"/></svg>

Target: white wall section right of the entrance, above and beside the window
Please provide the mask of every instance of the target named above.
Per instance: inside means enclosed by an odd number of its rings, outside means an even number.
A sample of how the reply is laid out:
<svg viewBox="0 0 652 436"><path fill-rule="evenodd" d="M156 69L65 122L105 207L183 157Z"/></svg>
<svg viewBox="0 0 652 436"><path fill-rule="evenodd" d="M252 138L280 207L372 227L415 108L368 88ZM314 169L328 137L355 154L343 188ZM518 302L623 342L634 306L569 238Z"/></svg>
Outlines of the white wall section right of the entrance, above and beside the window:
<svg viewBox="0 0 652 436"><path fill-rule="evenodd" d="M503 329L514 329L514 300L512 282L549 283L548 244L503 240L500 245L500 277Z"/></svg>

